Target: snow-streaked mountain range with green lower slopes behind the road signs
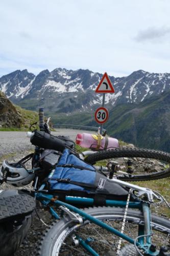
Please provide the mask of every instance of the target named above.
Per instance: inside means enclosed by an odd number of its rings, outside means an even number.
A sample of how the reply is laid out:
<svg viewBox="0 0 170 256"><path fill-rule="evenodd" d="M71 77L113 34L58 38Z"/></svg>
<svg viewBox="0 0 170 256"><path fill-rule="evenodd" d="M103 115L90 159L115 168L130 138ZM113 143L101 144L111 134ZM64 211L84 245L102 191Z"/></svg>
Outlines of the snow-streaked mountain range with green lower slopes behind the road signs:
<svg viewBox="0 0 170 256"><path fill-rule="evenodd" d="M95 89L103 74L89 70L44 70L37 76L16 70L0 78L0 90L29 110L44 106L58 123L95 125L93 115L102 104ZM138 70L126 77L109 76L114 94L106 94L109 135L137 146L170 148L170 73Z"/></svg>

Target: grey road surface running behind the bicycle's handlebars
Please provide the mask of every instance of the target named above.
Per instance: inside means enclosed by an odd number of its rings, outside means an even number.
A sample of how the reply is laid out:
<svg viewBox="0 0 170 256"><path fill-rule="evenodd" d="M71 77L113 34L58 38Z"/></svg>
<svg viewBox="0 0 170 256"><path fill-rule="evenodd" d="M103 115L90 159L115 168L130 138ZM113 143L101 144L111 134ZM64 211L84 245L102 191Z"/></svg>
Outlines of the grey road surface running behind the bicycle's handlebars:
<svg viewBox="0 0 170 256"><path fill-rule="evenodd" d="M75 141L76 135L83 132L85 131L74 129L56 129L56 132L52 132L52 134L55 136L70 136L70 138ZM88 133L94 132L88 131ZM34 146L30 143L30 139L27 138L26 134L26 132L0 132L0 157L14 152L22 153L33 149Z"/></svg>

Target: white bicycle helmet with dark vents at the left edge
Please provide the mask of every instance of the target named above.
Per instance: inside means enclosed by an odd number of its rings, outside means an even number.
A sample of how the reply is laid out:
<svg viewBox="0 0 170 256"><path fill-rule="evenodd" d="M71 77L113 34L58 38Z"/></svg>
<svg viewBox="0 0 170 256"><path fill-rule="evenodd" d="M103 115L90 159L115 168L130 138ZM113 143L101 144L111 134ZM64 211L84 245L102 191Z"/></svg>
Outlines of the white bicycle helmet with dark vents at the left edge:
<svg viewBox="0 0 170 256"><path fill-rule="evenodd" d="M8 163L4 160L0 170L0 179L15 187L25 186L34 180L34 174L28 173L24 165Z"/></svg>

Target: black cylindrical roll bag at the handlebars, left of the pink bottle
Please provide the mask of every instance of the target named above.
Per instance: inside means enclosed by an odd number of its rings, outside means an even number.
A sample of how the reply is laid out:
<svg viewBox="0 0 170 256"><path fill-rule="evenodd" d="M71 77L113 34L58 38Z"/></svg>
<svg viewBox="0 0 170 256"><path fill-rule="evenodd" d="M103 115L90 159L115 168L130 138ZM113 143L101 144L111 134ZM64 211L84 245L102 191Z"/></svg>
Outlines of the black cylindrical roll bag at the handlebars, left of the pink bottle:
<svg viewBox="0 0 170 256"><path fill-rule="evenodd" d="M63 152L66 147L63 140L42 131L35 131L30 141L32 144L42 148L47 148L48 150Z"/></svg>

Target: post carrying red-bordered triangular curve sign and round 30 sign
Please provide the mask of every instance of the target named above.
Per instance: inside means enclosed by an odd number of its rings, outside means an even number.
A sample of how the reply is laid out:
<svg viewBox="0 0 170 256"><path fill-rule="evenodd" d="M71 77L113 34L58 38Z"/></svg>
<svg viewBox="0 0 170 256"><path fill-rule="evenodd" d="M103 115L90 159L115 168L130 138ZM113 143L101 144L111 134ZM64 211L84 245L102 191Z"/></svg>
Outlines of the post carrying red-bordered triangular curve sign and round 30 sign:
<svg viewBox="0 0 170 256"><path fill-rule="evenodd" d="M95 93L103 93L103 100L102 100L102 108L98 108L95 111L95 121L101 124L101 129L100 129L100 134L102 135L102 130L103 130L103 123L105 123L108 120L108 110L105 108L105 93L114 93L114 88L113 85L108 77L108 74L105 72L105 74L103 75L100 83L98 84L98 87L95 90ZM101 109L99 111L99 109ZM102 113L102 109L105 111ZM100 115L101 113L101 115ZM105 114L104 114L105 113ZM103 117L102 117L103 115ZM104 118L105 115L107 116L107 118ZM103 120L102 120L102 119Z"/></svg>

